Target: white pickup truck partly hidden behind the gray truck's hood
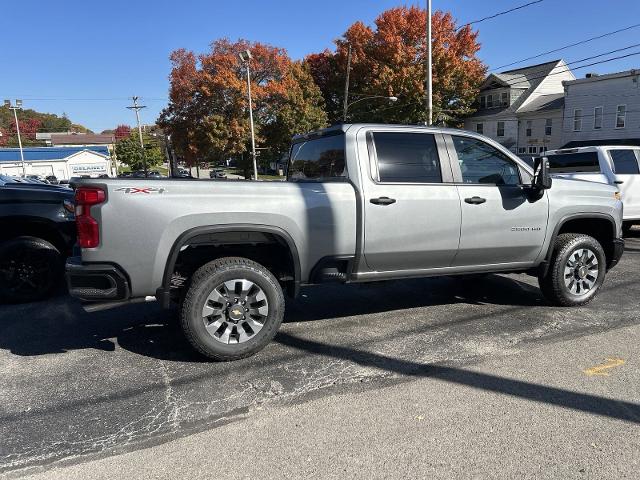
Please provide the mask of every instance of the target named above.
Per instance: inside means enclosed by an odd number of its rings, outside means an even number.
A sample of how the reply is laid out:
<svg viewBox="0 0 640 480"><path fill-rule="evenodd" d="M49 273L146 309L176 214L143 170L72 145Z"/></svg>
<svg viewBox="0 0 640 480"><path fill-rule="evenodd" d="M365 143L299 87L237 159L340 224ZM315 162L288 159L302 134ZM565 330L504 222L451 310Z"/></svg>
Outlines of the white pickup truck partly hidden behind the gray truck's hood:
<svg viewBox="0 0 640 480"><path fill-rule="evenodd" d="M549 150L551 172L565 178L607 183L616 187L624 204L624 232L640 224L640 147L602 145Z"/></svg>

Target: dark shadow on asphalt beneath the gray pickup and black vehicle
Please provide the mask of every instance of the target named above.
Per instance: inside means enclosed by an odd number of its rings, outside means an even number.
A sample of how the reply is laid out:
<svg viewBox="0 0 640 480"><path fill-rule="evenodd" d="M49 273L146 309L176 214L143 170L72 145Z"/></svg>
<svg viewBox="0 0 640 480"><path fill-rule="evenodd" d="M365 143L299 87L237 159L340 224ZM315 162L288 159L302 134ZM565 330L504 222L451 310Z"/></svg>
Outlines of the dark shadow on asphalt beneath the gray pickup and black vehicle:
<svg viewBox="0 0 640 480"><path fill-rule="evenodd" d="M331 301L327 302L327 298ZM324 285L288 302L284 321L316 322L460 303L509 305L519 309L544 305L544 300L537 288L497 275ZM114 351L117 344L130 352L160 360L205 361L187 344L177 315L175 310L163 310L155 303L87 313L78 301L67 296L47 302L3 305L0 306L0 349L19 356L37 356L79 349L109 352ZM428 328L440 326L430 324Z"/></svg>

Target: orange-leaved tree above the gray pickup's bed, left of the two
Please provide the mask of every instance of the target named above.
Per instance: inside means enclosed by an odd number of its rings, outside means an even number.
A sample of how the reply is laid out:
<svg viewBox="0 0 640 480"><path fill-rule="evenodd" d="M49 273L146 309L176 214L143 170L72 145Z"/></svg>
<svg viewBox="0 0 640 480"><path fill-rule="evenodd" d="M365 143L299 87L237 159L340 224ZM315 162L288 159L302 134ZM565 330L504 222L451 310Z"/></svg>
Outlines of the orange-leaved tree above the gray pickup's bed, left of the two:
<svg viewBox="0 0 640 480"><path fill-rule="evenodd" d="M250 50L251 93L261 158L279 158L291 136L326 125L323 99L313 78L286 51L246 40L216 40L196 56L171 54L169 105L159 125L190 162L220 161L250 145L246 71L238 54ZM248 157L248 156L245 156Z"/></svg>

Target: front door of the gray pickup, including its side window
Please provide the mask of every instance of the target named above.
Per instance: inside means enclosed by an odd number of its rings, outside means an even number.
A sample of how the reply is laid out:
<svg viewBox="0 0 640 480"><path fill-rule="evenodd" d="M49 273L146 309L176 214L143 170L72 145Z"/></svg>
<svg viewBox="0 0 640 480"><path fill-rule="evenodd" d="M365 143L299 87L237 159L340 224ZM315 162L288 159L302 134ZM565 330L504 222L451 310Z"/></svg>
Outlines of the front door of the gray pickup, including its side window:
<svg viewBox="0 0 640 480"><path fill-rule="evenodd" d="M462 227L454 266L533 262L547 229L547 195L534 199L521 186L515 160L473 137L451 136Z"/></svg>

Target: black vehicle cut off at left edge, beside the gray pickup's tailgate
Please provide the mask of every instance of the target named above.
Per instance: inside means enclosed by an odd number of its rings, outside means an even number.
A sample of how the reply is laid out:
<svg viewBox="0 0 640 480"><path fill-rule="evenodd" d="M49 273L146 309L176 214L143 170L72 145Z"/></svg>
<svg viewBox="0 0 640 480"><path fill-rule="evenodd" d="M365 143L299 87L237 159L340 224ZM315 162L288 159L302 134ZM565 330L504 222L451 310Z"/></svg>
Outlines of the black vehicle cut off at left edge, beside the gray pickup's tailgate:
<svg viewBox="0 0 640 480"><path fill-rule="evenodd" d="M0 301L47 298L76 239L73 190L0 175Z"/></svg>

